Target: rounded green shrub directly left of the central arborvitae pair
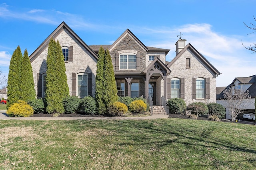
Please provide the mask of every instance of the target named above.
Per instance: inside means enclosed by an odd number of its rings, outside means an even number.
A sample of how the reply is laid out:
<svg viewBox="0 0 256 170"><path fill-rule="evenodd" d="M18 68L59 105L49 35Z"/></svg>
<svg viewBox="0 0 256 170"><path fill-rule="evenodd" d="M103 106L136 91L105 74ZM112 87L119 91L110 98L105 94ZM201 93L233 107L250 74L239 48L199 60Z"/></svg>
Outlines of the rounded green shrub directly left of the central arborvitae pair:
<svg viewBox="0 0 256 170"><path fill-rule="evenodd" d="M96 113L96 102L93 97L86 96L81 100L81 110L86 114Z"/></svg>

